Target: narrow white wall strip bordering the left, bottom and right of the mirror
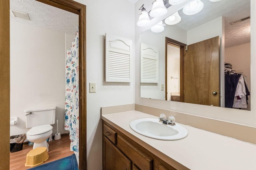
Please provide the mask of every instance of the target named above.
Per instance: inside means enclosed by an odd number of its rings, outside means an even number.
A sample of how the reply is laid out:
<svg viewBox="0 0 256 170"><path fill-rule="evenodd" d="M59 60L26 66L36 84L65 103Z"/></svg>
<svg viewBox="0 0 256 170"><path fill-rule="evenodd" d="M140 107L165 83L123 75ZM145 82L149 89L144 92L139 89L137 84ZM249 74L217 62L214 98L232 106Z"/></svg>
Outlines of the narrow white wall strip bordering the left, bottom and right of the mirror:
<svg viewBox="0 0 256 170"><path fill-rule="evenodd" d="M140 6L145 2L145 0L138 0L135 4L135 8L140 8ZM138 20L139 11L135 14L135 20ZM256 1L251 1L251 49L256 46ZM162 18L159 18L162 20ZM157 21L156 21L157 22ZM136 42L136 84L140 81L140 75L138 72L140 71L140 34L146 28L138 28L135 27L135 42ZM223 35L223 33L222 33ZM223 41L224 38L222 38ZM222 46L223 47L223 46ZM222 51L223 54L223 51ZM256 52L251 51L251 72L256 72ZM224 68L223 68L224 70ZM221 70L222 71L222 70ZM251 88L256 87L256 79L251 79ZM256 100L255 93L253 89L251 89L251 102ZM198 115L203 117L209 117L212 119L218 119L233 123L238 123L242 125L256 127L256 106L251 106L251 111L246 110L238 110L238 109L230 109L230 108L223 108L223 107L211 107L211 106L204 106L204 105L197 105L197 104L188 104L182 102L170 102L170 101L162 101L162 100L153 100L153 99L146 99L140 98L140 88L136 86L136 104L142 104L146 106L158 107L163 109L170 109L173 111L178 111L182 113L188 113L192 115Z"/></svg>

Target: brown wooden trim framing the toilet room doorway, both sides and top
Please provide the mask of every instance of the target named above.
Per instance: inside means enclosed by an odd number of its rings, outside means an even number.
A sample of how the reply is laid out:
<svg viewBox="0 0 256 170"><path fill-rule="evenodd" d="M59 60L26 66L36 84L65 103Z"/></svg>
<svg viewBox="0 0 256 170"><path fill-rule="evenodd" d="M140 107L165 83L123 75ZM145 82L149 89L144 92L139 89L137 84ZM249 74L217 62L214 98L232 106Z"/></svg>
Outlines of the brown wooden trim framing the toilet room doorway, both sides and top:
<svg viewBox="0 0 256 170"><path fill-rule="evenodd" d="M37 0L44 4L60 8L79 15L79 169L86 170L87 166L87 153L86 153L86 6L75 2L73 0ZM9 135L10 135L10 1L0 1L0 36L1 41L1 61L6 61L1 71L4 73L2 88L3 95L1 96L2 114L4 116L4 122L1 124L1 129L4 132L4 140L1 141L1 150L4 156L3 164L1 163L0 169L9 169L10 167L10 152L9 152ZM8 76L8 77L7 77ZM3 109L2 109L2 106ZM5 121L6 120L6 121ZM2 128L3 127L3 128ZM8 128L6 130L6 128ZM3 134L3 133L1 133ZM5 139L7 138L8 139ZM2 145L3 144L3 145ZM7 151L7 152L6 152Z"/></svg>

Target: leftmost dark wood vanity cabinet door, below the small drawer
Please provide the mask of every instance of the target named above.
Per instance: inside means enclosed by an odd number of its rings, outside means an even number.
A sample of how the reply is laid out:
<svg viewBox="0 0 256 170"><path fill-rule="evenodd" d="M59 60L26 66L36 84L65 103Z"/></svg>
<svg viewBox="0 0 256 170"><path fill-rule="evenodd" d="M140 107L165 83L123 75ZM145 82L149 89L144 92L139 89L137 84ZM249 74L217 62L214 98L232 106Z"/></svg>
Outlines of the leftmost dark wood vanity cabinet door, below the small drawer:
<svg viewBox="0 0 256 170"><path fill-rule="evenodd" d="M106 137L103 143L104 170L131 170L132 162Z"/></svg>

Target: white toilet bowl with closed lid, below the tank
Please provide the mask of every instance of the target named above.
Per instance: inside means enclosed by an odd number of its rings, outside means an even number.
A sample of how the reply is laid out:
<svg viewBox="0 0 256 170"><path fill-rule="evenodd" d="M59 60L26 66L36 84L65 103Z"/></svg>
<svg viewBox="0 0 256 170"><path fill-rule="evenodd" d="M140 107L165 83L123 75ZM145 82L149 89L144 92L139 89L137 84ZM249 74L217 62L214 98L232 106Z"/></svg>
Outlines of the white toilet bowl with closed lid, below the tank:
<svg viewBox="0 0 256 170"><path fill-rule="evenodd" d="M47 152L49 151L49 144L47 139L52 135L52 126L51 125L41 125L32 127L27 133L27 139L30 142L33 142L33 149L38 147L46 147Z"/></svg>

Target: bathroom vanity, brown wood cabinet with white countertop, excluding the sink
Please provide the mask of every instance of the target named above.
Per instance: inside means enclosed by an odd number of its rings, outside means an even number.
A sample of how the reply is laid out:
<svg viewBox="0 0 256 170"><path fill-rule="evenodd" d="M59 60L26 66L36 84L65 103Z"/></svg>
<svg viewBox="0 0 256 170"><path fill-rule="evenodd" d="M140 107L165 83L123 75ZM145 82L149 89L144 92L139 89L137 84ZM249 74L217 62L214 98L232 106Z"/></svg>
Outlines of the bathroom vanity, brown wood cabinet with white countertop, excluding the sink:
<svg viewBox="0 0 256 170"><path fill-rule="evenodd" d="M130 122L142 118L158 119L136 110L102 115L104 170L250 170L256 167L253 144L180 123L188 131L184 139L152 139L130 128Z"/></svg>

